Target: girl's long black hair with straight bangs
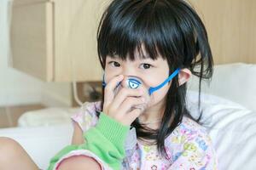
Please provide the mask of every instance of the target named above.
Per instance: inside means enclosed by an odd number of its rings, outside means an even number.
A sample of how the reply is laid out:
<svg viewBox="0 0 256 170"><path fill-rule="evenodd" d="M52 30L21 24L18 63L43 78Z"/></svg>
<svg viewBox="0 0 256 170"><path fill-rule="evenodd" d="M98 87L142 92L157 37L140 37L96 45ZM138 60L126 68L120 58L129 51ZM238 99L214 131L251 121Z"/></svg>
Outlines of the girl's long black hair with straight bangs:
<svg viewBox="0 0 256 170"><path fill-rule="evenodd" d="M98 56L105 68L107 56L133 60L142 44L151 59L162 56L169 65L169 74L177 68L188 68L199 77L199 108L201 80L210 79L213 71L212 52L207 31L195 9L183 0L113 0L105 10L97 31ZM104 89L102 89L104 101ZM200 123L186 108L187 84L179 86L178 77L166 94L166 110L157 130L143 126L138 119L137 138L153 139L161 156L166 156L165 139L189 116ZM103 105L103 102L102 102Z"/></svg>

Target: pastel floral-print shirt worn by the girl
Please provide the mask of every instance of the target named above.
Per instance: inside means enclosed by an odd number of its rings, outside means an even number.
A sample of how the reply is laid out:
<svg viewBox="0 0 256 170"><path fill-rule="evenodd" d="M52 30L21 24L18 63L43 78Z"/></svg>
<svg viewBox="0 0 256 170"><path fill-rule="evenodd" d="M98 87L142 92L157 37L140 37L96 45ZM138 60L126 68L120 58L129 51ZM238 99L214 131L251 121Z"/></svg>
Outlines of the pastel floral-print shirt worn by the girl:
<svg viewBox="0 0 256 170"><path fill-rule="evenodd" d="M82 110L72 116L73 122L86 132L96 126L100 102L86 103ZM165 139L166 157L161 157L156 145L145 145L136 138L136 129L131 128L125 142L123 169L137 170L214 170L217 159L210 137L204 127L188 117ZM78 153L77 153L78 155ZM98 160L98 158L96 158ZM102 164L102 169L105 165Z"/></svg>

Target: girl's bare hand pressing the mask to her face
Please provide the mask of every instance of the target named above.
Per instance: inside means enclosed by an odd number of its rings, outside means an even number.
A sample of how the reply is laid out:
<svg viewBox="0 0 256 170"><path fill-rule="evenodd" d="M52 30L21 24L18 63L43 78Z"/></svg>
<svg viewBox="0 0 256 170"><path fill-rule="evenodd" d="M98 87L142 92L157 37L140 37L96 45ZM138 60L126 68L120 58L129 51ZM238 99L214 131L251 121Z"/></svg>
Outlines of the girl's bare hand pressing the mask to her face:
<svg viewBox="0 0 256 170"><path fill-rule="evenodd" d="M146 99L143 97L143 88L131 89L121 88L118 94L114 95L114 88L124 79L123 75L113 77L108 82L104 91L103 113L112 117L123 125L131 125L140 114L141 109L134 108L135 105L143 105ZM131 110L131 108L133 108Z"/></svg>

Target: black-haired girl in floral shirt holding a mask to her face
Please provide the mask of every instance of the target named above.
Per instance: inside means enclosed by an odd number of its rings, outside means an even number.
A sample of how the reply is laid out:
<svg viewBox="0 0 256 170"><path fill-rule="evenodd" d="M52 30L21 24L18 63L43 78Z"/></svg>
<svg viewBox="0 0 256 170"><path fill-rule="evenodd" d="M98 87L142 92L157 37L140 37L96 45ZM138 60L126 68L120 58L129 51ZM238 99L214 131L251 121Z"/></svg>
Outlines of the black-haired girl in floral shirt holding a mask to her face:
<svg viewBox="0 0 256 170"><path fill-rule="evenodd" d="M97 41L102 101L72 117L73 144L49 169L217 169L201 116L186 108L189 77L212 77L195 10L183 0L113 0Z"/></svg>

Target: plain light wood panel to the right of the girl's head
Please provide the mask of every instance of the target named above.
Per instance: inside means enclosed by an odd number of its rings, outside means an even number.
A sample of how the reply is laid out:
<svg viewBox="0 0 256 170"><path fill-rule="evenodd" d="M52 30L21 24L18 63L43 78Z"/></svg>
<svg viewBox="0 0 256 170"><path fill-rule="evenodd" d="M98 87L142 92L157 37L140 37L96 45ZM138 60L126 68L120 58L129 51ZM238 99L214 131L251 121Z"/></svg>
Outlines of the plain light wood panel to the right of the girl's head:
<svg viewBox="0 0 256 170"><path fill-rule="evenodd" d="M215 64L256 64L255 0L187 0L207 27Z"/></svg>

